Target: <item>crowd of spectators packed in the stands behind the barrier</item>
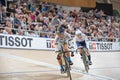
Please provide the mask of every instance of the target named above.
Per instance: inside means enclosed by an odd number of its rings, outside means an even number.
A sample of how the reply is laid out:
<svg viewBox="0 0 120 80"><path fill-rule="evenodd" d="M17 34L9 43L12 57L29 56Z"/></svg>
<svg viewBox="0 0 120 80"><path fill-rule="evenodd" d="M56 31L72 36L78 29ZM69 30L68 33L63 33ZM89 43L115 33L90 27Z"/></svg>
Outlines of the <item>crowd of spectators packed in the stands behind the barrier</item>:
<svg viewBox="0 0 120 80"><path fill-rule="evenodd" d="M54 38L56 27L64 24L68 33L74 35L75 30L80 29L94 41L120 38L120 21L97 9L68 12L55 4L28 2L12 3L7 8L0 5L0 15L0 33L3 34Z"/></svg>

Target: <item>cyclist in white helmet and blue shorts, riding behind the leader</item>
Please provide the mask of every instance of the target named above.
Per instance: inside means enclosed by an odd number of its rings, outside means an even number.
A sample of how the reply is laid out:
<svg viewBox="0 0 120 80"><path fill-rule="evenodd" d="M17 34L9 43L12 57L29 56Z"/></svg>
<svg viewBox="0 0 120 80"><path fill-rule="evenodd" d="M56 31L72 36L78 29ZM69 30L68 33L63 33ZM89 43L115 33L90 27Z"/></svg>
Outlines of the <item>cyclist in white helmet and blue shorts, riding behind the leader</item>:
<svg viewBox="0 0 120 80"><path fill-rule="evenodd" d="M75 33L75 42L77 44L77 48L79 49L81 56L82 56L82 48L86 49L88 60L89 60L89 65L92 65L91 55L87 48L86 40L87 40L87 36L84 33L82 33L80 30L77 30Z"/></svg>

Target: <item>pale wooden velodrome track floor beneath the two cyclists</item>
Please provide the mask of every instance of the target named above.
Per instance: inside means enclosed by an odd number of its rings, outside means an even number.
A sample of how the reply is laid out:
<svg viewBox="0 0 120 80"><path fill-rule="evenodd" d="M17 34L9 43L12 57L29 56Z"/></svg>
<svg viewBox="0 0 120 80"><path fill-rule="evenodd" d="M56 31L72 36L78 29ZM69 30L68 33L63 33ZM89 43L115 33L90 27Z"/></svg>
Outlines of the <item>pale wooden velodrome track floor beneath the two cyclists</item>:
<svg viewBox="0 0 120 80"><path fill-rule="evenodd" d="M80 56L72 58L73 80L120 80L120 52L91 52L93 65L84 72ZM0 80L69 80L60 74L54 51L0 48Z"/></svg>

